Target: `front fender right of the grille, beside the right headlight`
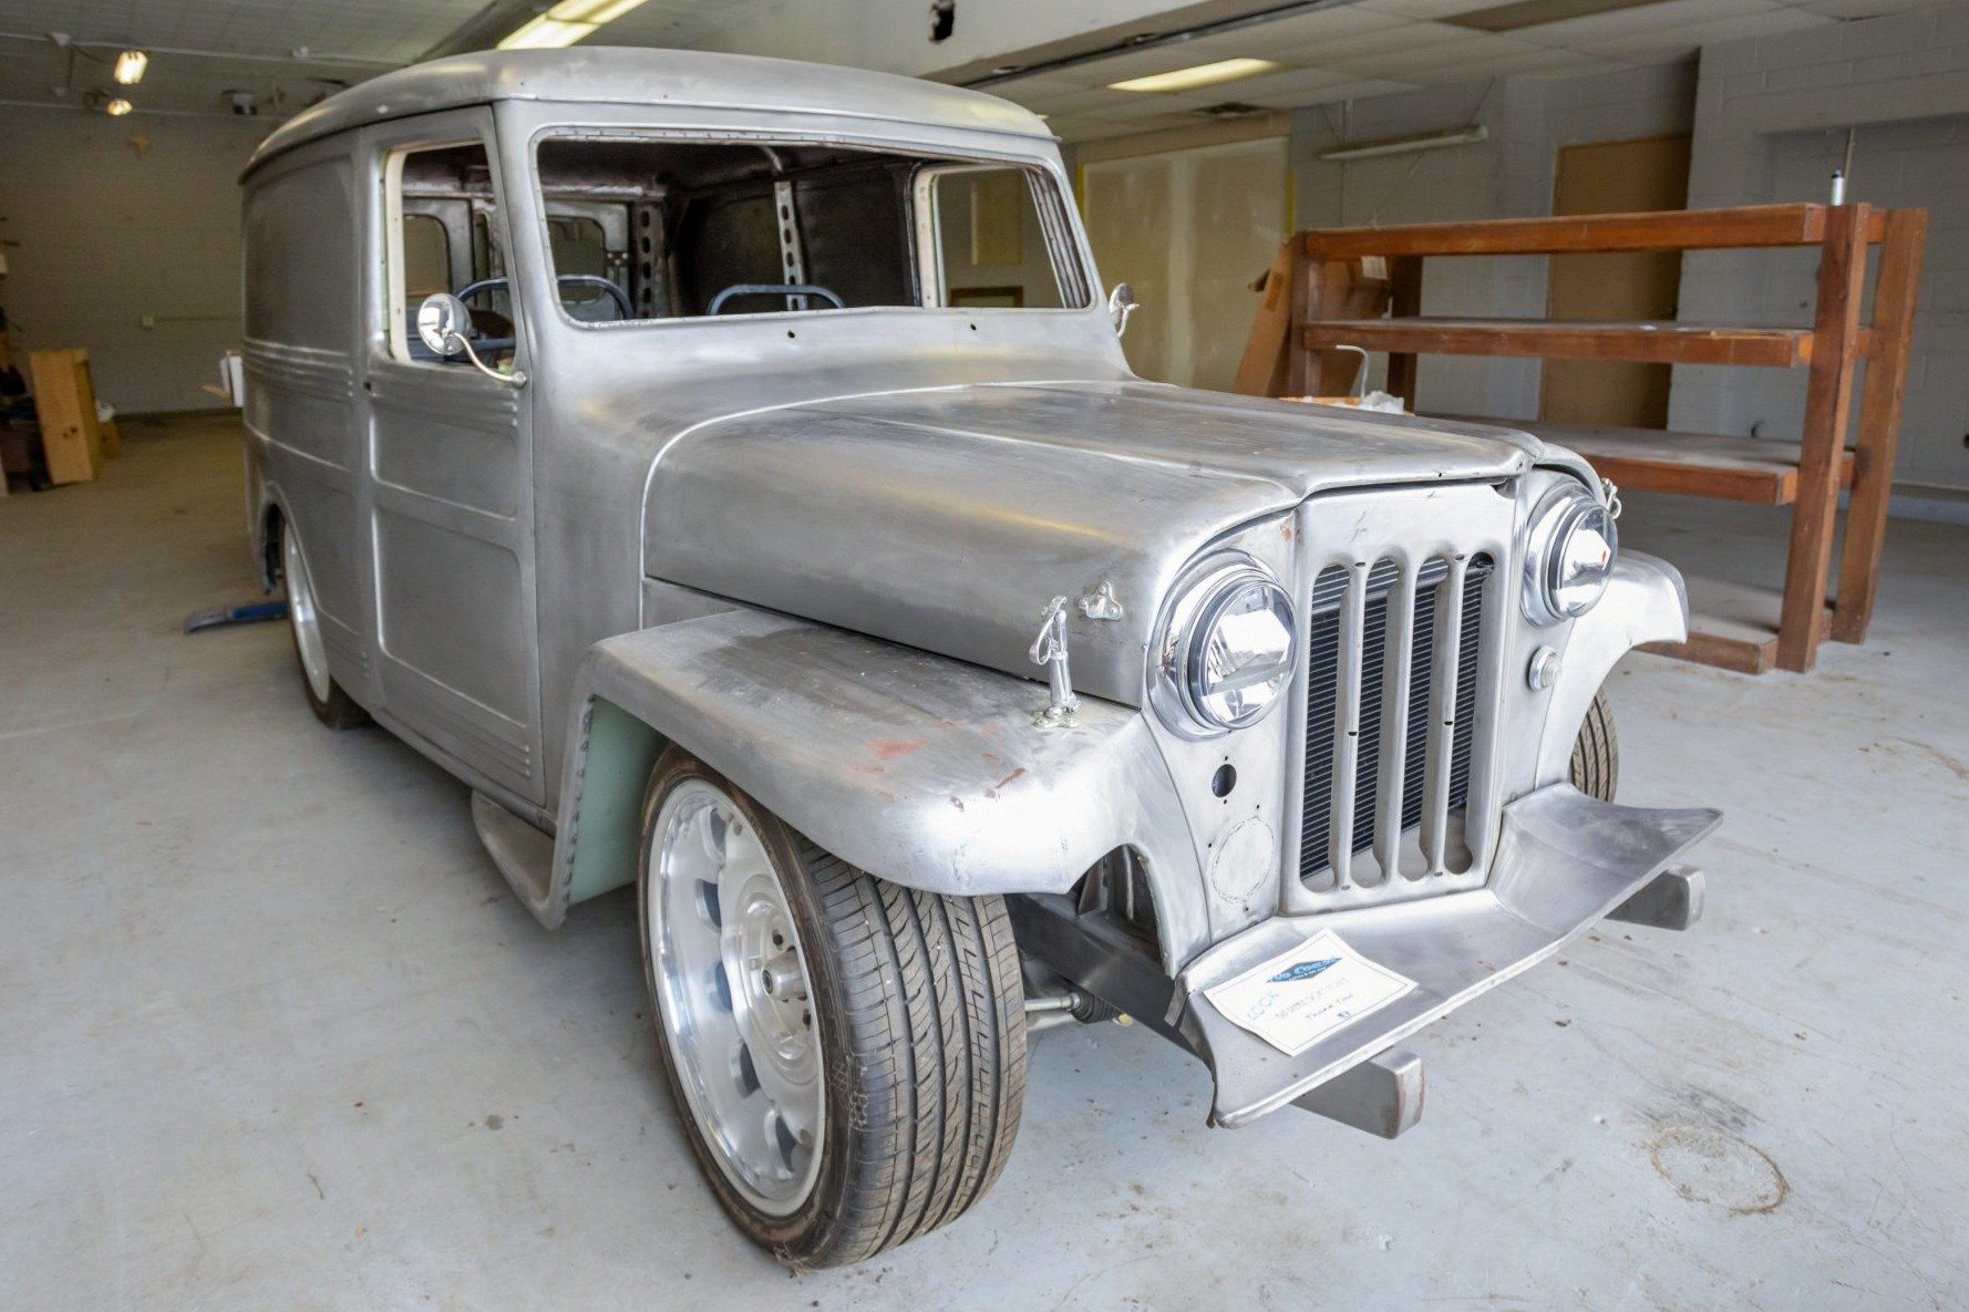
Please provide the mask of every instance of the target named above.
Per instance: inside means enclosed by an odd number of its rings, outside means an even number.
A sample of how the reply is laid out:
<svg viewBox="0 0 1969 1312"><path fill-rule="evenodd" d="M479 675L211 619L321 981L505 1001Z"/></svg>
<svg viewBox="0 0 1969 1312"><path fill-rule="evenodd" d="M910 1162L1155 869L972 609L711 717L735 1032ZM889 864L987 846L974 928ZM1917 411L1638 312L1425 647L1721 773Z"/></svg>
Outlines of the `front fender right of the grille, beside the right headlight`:
<svg viewBox="0 0 1969 1312"><path fill-rule="evenodd" d="M1620 552L1601 603L1573 623L1561 652L1561 674L1546 707L1538 743L1538 786L1567 776L1573 739L1615 664L1642 642L1682 642L1689 636L1689 599L1682 573L1666 559Z"/></svg>

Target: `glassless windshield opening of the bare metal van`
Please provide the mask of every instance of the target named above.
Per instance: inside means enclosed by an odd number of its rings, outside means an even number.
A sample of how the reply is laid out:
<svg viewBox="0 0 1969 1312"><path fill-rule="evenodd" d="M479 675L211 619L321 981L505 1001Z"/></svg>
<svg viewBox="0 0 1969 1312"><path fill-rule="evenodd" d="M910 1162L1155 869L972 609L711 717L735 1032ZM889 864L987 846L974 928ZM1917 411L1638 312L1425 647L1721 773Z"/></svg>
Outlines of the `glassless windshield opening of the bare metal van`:
<svg viewBox="0 0 1969 1312"><path fill-rule="evenodd" d="M1040 167L620 136L547 138L536 162L579 321L1089 303Z"/></svg>

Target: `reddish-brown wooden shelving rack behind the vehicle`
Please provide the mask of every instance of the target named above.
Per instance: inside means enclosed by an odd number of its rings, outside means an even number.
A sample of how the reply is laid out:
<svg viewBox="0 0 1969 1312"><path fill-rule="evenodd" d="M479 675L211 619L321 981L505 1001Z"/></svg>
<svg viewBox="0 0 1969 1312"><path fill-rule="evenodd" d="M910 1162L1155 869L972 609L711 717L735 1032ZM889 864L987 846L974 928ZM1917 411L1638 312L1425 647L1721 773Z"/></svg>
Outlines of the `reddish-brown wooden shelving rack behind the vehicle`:
<svg viewBox="0 0 1969 1312"><path fill-rule="evenodd" d="M1922 209L1750 205L1300 232L1262 284L1270 313L1258 311L1239 390L1327 394L1335 364L1353 368L1351 357L1325 355L1335 347L1386 351L1388 390L1410 408L1416 404L1416 357L1437 353L1802 370L1806 418L1798 443L1508 424L1573 447L1622 489L1794 506L1776 632L1695 630L1697 617L1687 642L1658 644L1656 650L1747 674L1772 666L1810 670L1823 638L1861 642L1873 619L1926 229L1928 211ZM1873 244L1880 246L1880 266L1873 315L1865 319L1861 301L1867 248ZM1819 248L1817 305L1810 329L1420 315L1428 256L1762 246ZM1363 270L1384 272L1390 317L1347 317L1361 315ZM1288 288L1290 315L1278 303ZM1849 449L1847 414L1861 361L1867 361L1867 370L1859 431ZM1827 609L1841 489L1851 489L1851 498L1837 601Z"/></svg>

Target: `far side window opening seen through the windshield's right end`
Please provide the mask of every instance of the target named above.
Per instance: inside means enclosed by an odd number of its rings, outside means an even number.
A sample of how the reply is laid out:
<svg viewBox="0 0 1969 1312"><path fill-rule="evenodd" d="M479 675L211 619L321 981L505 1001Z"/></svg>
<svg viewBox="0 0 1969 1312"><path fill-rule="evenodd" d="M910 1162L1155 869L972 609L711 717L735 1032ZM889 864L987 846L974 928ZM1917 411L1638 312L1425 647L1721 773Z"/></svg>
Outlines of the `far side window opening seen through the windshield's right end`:
<svg viewBox="0 0 1969 1312"><path fill-rule="evenodd" d="M933 169L918 195L935 223L935 305L1059 309L1038 179L1014 167Z"/></svg>

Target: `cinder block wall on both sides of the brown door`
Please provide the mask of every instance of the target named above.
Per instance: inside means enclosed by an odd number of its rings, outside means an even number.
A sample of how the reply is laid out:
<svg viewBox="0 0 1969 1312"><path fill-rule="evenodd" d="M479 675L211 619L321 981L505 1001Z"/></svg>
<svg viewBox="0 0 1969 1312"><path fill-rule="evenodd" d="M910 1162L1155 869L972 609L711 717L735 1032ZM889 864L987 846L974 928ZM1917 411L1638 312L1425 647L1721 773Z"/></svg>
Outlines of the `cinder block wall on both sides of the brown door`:
<svg viewBox="0 0 1969 1312"><path fill-rule="evenodd" d="M1325 164L1319 152L1483 124L1491 140L1420 156ZM1709 45L1693 63L1567 79L1508 77L1298 110L1300 227L1552 213L1561 146L1693 134L1689 205L1817 201L1857 128L1847 195L1930 211L1928 260L1896 483L1969 491L1969 6ZM1435 260L1424 313L1546 307L1544 260ZM1691 254L1682 317L1804 323L1811 252ZM1538 414L1536 361L1429 357L1426 410ZM1378 378L1378 374L1376 374ZM1794 439L1804 378L1678 368L1676 427Z"/></svg>

